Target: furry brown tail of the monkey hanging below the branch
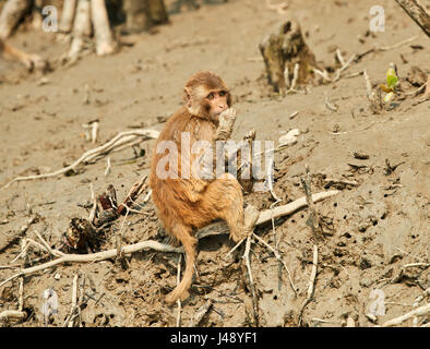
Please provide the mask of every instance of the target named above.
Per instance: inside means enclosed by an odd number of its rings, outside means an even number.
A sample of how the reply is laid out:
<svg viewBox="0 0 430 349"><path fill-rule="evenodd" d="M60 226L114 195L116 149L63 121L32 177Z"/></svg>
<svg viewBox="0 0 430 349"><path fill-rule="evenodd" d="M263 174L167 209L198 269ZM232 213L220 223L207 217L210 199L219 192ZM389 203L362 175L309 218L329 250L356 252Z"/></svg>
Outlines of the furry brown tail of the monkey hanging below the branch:
<svg viewBox="0 0 430 349"><path fill-rule="evenodd" d="M191 286L192 275L194 272L194 262L196 256L195 245L198 243L198 239L191 234L192 229L183 225L175 225L175 227L169 229L169 231L182 243L187 255L187 267L183 273L182 280L175 290L166 297L166 302L171 304L179 298L183 301L190 296L188 290Z"/></svg>

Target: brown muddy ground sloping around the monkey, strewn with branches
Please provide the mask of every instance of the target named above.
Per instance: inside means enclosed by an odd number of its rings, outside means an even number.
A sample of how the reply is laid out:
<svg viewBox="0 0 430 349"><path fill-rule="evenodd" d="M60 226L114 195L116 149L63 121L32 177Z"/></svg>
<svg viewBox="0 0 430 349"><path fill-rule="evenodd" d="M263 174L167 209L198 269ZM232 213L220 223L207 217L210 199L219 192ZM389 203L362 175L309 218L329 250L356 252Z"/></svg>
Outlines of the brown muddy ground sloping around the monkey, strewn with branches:
<svg viewBox="0 0 430 349"><path fill-rule="evenodd" d="M275 155L274 191L282 204L303 195L300 176L306 164L312 173L313 192L339 190L315 205L324 237L316 241L314 294L300 325L342 326L350 317L356 326L374 326L407 313L430 282L430 101L418 104L422 94L397 96L373 115L363 76L346 75L366 69L373 83L383 83L390 62L394 62L403 91L417 89L425 81L413 68L418 67L425 76L430 73L430 45L421 29L391 0L379 2L385 10L385 32L368 33L373 4L371 0L308 0L306 4L290 0L286 14L266 9L264 1L204 5L171 15L170 24L157 27L155 34L127 37L134 45L123 46L117 55L86 55L72 67L56 65L67 46L57 43L53 34L21 31L11 43L38 52L56 69L41 81L40 74L28 73L17 63L0 61L0 185L16 176L60 169L132 127L160 130L163 123L157 117L169 116L179 107L187 79L198 70L212 70L232 89L238 110L235 139L255 129L259 140L277 145L287 131L301 131L297 144ZM300 23L321 67L335 65L336 48L349 58L374 44L392 46L416 38L398 48L365 56L336 83L322 84L315 79L307 93L301 86L299 93L280 97L266 83L259 43L287 15ZM337 111L325 106L326 97ZM296 110L299 113L290 119ZM94 119L99 119L96 145L85 140L82 128ZM60 246L71 218L88 217L89 183L96 194L114 184L122 198L134 182L148 173L153 144L143 142L145 154L138 158L131 148L109 155L111 171L107 177L103 158L81 166L75 176L13 183L1 191L0 282L17 267L52 260L34 248L25 258L12 263L14 268L5 268L20 254L22 238L37 240L38 232L52 248ZM357 159L355 152L369 158ZM398 166L390 171L386 159L392 167ZM342 180L355 184L339 183ZM270 193L246 196L246 203L260 209L273 202ZM37 220L20 236L21 227L34 215ZM278 244L297 288L295 297L285 270L279 280L279 264L273 253L253 243L251 266L259 294L259 326L299 325L315 242L308 217L309 210L302 209L276 219L275 231L272 225L255 229L267 243ZM116 246L115 232L121 224L122 218L105 231L97 251ZM165 241L151 201L140 213L128 216L123 244L148 239ZM243 251L227 255L232 246L227 236L200 241L198 275L191 297L182 303L180 325L189 325L208 299L213 306L200 326L255 325L240 255ZM126 255L122 266L114 260L69 263L25 276L23 305L28 318L5 325L47 325L41 312L43 292L51 288L58 294L58 314L49 326L62 326L71 310L73 277L79 274L80 282L85 281L81 288L82 326L176 326L178 306L167 305L164 299L176 285L177 261L175 253L142 251ZM408 266L411 263L419 265ZM366 314L375 301L371 298L375 289L383 292L379 294L384 297L385 311L372 323ZM425 298L419 305L427 302ZM17 304L15 278L0 287L0 312L16 310ZM428 322L429 317L423 316L418 325ZM402 324L411 325L413 320Z"/></svg>

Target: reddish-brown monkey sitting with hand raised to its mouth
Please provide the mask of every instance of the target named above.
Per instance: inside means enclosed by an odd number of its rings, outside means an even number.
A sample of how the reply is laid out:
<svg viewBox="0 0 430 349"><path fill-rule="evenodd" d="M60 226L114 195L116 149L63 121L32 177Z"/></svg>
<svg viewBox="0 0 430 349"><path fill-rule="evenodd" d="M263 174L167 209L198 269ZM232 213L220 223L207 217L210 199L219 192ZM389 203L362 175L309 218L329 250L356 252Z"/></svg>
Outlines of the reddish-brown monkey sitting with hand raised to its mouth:
<svg viewBox="0 0 430 349"><path fill-rule="evenodd" d="M187 147L191 149L198 141L212 145L217 140L226 141L236 119L230 107L230 93L219 76L212 72L194 74L184 87L184 106L167 121L154 148L150 177L153 202L167 233L182 243L187 255L183 278L166 297L168 303L189 297L196 257L194 228L203 228L219 218L227 222L230 238L239 242L250 233L258 218L252 206L243 213L242 189L234 176L222 173L218 178L204 179L184 167L198 161L201 153L187 151L182 135L188 136ZM170 152L164 144L175 144L177 148L177 156L169 154L168 163L168 170L177 176L162 179L160 170L166 170L163 159Z"/></svg>

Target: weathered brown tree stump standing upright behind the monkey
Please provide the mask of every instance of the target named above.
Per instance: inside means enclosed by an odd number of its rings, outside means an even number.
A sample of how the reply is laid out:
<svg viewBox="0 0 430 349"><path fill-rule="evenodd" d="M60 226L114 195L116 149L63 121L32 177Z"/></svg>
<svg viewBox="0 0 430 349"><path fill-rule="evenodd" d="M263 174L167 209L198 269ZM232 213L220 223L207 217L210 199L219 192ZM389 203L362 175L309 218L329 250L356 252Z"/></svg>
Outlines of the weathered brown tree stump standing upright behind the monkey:
<svg viewBox="0 0 430 349"><path fill-rule="evenodd" d="M315 57L304 43L300 25L294 20L277 24L260 44L268 83L275 92L289 88L295 65L299 64L297 83L307 83L312 69L318 68Z"/></svg>

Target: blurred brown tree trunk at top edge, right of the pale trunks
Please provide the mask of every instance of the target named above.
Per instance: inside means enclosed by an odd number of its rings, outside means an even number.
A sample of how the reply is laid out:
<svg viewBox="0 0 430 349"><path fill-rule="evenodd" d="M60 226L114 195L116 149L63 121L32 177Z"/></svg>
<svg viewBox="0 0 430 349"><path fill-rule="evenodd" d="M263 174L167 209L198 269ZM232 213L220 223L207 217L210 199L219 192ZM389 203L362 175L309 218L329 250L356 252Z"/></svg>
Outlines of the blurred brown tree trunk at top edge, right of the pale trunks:
<svg viewBox="0 0 430 349"><path fill-rule="evenodd" d="M168 22L164 0L124 0L126 27L139 33L151 29L154 25Z"/></svg>

